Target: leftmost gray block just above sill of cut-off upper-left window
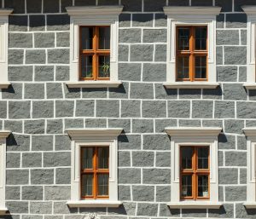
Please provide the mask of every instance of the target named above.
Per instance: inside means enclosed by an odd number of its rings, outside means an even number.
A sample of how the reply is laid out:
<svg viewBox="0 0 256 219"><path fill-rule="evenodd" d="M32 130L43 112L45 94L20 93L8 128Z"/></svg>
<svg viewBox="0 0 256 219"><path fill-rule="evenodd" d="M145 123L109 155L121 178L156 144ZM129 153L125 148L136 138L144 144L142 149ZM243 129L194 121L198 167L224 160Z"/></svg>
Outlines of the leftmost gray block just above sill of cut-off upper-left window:
<svg viewBox="0 0 256 219"><path fill-rule="evenodd" d="M8 79L9 81L32 81L33 67L32 66L9 66Z"/></svg>

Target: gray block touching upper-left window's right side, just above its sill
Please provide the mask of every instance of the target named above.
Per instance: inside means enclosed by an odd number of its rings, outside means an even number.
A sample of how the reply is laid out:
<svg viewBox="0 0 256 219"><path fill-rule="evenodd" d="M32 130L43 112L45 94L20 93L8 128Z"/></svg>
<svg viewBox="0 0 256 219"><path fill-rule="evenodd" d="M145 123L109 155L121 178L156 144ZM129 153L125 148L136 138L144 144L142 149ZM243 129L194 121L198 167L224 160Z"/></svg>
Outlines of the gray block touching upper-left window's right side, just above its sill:
<svg viewBox="0 0 256 219"><path fill-rule="evenodd" d="M140 81L142 65L137 63L119 63L119 80Z"/></svg>

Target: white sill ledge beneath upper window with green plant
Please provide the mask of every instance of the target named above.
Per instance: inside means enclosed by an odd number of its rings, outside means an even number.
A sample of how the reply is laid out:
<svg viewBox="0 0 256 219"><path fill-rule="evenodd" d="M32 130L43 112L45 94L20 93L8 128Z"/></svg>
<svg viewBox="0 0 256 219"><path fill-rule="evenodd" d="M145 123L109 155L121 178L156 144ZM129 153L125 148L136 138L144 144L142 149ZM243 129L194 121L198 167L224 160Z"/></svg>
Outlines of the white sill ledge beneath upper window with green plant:
<svg viewBox="0 0 256 219"><path fill-rule="evenodd" d="M118 88L121 81L79 81L67 82L68 88Z"/></svg>

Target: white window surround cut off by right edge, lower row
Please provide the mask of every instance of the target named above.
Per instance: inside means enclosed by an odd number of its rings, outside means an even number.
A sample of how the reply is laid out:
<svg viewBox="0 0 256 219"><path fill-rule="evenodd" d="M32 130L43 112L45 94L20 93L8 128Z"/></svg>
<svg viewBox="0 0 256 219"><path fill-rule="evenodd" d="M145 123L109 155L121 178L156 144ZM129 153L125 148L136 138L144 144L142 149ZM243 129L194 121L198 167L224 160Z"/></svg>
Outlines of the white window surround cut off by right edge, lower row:
<svg viewBox="0 0 256 219"><path fill-rule="evenodd" d="M243 129L247 136L247 209L256 209L256 127Z"/></svg>

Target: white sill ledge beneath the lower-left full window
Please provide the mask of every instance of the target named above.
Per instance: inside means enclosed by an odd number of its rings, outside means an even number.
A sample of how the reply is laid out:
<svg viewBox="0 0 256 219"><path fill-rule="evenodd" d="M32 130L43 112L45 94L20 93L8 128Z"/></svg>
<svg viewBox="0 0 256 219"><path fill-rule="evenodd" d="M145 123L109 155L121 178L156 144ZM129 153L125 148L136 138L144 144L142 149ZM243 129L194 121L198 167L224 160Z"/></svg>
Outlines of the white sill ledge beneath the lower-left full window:
<svg viewBox="0 0 256 219"><path fill-rule="evenodd" d="M89 208L118 208L119 205L122 205L121 201L110 201L110 200L79 200L79 201L68 201L67 205L70 208L78 207L89 207Z"/></svg>

